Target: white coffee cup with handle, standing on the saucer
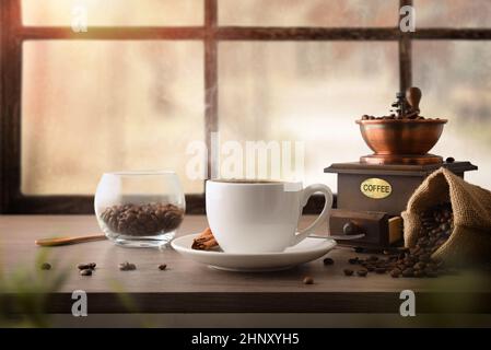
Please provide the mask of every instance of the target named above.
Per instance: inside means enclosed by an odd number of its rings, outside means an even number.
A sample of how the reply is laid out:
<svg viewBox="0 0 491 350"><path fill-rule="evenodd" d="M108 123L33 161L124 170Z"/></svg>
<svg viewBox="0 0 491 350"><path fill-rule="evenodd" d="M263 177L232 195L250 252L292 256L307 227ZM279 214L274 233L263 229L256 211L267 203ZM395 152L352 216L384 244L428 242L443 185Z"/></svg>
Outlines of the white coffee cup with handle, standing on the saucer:
<svg viewBox="0 0 491 350"><path fill-rule="evenodd" d="M302 208L322 192L326 203L320 215L297 231ZM207 217L211 232L226 253L283 252L313 233L329 215L332 192L326 185L302 188L301 183L208 180Z"/></svg>

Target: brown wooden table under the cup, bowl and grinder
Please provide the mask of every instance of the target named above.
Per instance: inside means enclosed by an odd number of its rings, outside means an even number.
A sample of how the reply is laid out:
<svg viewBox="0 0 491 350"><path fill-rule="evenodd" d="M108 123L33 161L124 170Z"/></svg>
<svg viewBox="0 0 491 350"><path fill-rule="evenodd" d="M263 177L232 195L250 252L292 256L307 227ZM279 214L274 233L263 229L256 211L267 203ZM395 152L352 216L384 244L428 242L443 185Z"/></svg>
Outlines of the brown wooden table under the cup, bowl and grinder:
<svg viewBox="0 0 491 350"><path fill-rule="evenodd" d="M303 224L312 218L304 218ZM186 217L179 235L206 226L204 217ZM185 259L168 248L122 248L108 241L72 246L39 248L34 240L52 235L100 232L90 215L0 217L0 261L7 278L20 268L34 273L66 269L68 280L49 298L49 313L71 313L74 290L87 292L90 312L112 313L399 313L402 290L417 295L419 313L491 313L491 278L482 271L466 270L436 279L394 279L370 273L346 277L351 249L329 253L334 266L322 259L280 272L238 273L215 270ZM52 264L39 271L35 258L46 250ZM358 256L361 256L358 254ZM136 271L120 271L118 264L131 261ZM95 261L92 277L78 273L77 264ZM159 264L167 264L165 271ZM312 276L315 283L302 282ZM11 298L12 291L0 291ZM121 300L130 301L122 303Z"/></svg>

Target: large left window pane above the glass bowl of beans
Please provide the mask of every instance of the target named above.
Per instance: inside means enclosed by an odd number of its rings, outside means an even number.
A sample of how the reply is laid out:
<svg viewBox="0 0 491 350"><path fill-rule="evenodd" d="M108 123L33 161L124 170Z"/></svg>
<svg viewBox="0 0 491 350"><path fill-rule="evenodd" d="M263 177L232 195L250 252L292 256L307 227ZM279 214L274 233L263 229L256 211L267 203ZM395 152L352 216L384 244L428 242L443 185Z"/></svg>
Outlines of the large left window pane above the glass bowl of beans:
<svg viewBox="0 0 491 350"><path fill-rule="evenodd" d="M202 44L24 44L22 191L93 194L102 173L175 170L186 192L188 142L203 140Z"/></svg>

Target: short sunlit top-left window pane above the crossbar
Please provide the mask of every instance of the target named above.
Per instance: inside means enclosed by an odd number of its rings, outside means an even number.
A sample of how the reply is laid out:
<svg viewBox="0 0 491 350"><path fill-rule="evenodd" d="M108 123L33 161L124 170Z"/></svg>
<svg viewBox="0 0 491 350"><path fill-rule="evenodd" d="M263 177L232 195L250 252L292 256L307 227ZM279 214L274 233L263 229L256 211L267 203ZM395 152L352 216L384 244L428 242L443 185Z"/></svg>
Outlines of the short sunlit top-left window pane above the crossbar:
<svg viewBox="0 0 491 350"><path fill-rule="evenodd" d="M86 14L87 25L200 25L203 0L22 0L25 25L70 26Z"/></svg>

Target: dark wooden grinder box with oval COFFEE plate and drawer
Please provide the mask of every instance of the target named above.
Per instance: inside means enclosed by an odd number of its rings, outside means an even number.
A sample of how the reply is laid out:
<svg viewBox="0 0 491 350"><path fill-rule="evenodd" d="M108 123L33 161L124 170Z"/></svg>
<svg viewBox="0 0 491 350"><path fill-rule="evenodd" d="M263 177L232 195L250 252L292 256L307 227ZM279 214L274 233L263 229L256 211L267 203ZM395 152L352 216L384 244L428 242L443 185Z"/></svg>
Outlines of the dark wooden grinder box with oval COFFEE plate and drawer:
<svg viewBox="0 0 491 350"><path fill-rule="evenodd" d="M440 164L366 164L335 163L324 170L338 174L337 209L332 210L329 229L332 234L364 233L350 245L387 247L401 240L400 213L414 189L440 167L456 175L477 170L470 162Z"/></svg>

